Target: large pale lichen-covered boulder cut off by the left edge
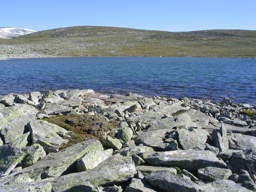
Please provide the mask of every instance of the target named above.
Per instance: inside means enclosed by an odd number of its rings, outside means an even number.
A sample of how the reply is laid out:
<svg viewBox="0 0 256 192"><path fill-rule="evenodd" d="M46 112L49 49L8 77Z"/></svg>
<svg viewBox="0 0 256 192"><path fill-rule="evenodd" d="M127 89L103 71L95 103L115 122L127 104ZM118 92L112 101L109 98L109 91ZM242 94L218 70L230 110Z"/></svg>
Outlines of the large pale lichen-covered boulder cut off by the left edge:
<svg viewBox="0 0 256 192"><path fill-rule="evenodd" d="M3 142L9 144L26 132L27 124L35 120L37 113L36 108L27 104L15 104L15 106L3 108L1 110L3 120L0 124Z"/></svg>

